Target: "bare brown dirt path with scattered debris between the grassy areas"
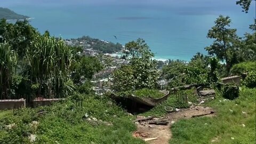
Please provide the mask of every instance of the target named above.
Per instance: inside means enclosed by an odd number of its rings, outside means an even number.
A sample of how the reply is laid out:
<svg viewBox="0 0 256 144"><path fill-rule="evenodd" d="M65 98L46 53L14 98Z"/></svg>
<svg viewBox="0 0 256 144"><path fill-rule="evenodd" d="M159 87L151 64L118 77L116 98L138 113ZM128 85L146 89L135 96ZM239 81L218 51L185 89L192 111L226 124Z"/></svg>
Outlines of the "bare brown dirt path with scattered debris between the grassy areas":
<svg viewBox="0 0 256 144"><path fill-rule="evenodd" d="M153 118L149 121L144 122L136 122L137 124L137 131L133 133L134 137L139 137L141 139L146 138L157 138L156 140L150 140L148 143L150 144L168 144L169 140L172 137L170 126L177 122L179 119L182 118L191 118L193 116L205 115L205 116L214 116L214 114L210 114L213 111L210 107L193 107L189 109L183 109L181 111L175 111L173 113L167 114L165 117L162 118ZM209 114L209 115L208 115ZM143 117L137 117L141 119ZM153 121L166 121L169 122L167 125L153 125L149 124L149 122Z"/></svg>

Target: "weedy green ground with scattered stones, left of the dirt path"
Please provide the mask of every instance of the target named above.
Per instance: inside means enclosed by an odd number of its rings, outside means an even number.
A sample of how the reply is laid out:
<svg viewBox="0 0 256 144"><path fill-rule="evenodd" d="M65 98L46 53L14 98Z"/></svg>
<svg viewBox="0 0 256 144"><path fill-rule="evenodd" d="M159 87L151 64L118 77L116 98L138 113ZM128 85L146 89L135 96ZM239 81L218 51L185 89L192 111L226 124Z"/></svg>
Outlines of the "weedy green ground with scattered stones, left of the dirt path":
<svg viewBox="0 0 256 144"><path fill-rule="evenodd" d="M47 113L38 116L38 110ZM86 121L83 116L94 117L104 123ZM0 143L29 143L28 135L36 134L35 143L145 143L132 137L136 127L122 108L107 98L87 97L83 107L76 102L55 103L50 107L25 108L15 115L0 118L0 125L15 123L11 130L0 128ZM37 129L29 126L38 121Z"/></svg>

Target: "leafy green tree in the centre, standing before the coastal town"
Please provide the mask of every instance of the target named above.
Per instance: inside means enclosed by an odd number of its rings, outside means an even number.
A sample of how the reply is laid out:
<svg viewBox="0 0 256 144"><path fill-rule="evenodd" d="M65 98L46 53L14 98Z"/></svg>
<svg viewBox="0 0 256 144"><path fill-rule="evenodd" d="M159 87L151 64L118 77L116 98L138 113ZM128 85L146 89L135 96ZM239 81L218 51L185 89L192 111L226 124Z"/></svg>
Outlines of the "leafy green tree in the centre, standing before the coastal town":
<svg viewBox="0 0 256 144"><path fill-rule="evenodd" d="M115 91L154 88L158 79L157 62L151 58L148 45L143 39L125 44L125 57L130 60L113 73L113 89Z"/></svg>

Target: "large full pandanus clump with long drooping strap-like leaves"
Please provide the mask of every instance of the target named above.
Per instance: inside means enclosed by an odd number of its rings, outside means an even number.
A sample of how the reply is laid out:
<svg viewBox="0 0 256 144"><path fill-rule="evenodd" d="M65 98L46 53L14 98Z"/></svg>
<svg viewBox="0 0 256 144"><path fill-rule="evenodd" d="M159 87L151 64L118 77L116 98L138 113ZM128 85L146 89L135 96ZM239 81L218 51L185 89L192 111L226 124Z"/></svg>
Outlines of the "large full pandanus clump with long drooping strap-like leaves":
<svg viewBox="0 0 256 144"><path fill-rule="evenodd" d="M37 36L26 57L31 69L30 81L37 85L38 96L65 97L74 89L69 79L73 55L61 39Z"/></svg>

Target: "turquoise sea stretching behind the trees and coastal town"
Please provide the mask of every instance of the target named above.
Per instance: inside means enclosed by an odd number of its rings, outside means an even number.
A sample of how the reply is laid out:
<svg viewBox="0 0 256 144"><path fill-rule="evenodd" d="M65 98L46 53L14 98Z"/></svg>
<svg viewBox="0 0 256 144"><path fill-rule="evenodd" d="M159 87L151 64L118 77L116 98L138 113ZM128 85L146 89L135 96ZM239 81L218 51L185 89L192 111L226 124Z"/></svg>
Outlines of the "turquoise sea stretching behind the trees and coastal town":
<svg viewBox="0 0 256 144"><path fill-rule="evenodd" d="M206 38L207 31L219 14L230 16L231 27L237 28L239 36L250 32L248 27L255 17L253 4L245 14L232 0L0 2L0 7L35 18L31 24L42 33L49 30L63 38L89 35L121 44L140 37L155 52L155 58L162 60L189 60L196 52L207 53L204 47L212 43Z"/></svg>

